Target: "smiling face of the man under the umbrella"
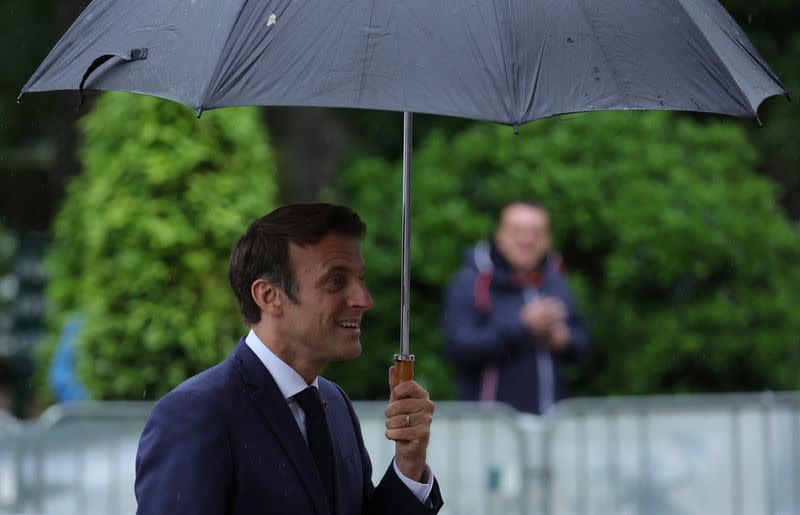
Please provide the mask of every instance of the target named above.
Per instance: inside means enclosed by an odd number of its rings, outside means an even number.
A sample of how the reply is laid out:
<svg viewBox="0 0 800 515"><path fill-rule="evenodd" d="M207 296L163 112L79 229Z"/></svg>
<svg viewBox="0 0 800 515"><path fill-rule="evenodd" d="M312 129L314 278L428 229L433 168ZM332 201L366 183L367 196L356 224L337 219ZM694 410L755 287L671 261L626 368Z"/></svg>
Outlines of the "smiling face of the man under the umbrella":
<svg viewBox="0 0 800 515"><path fill-rule="evenodd" d="M363 282L357 238L329 234L319 243L290 244L298 302L284 303L280 332L297 358L325 366L361 354L361 317L374 305Z"/></svg>

